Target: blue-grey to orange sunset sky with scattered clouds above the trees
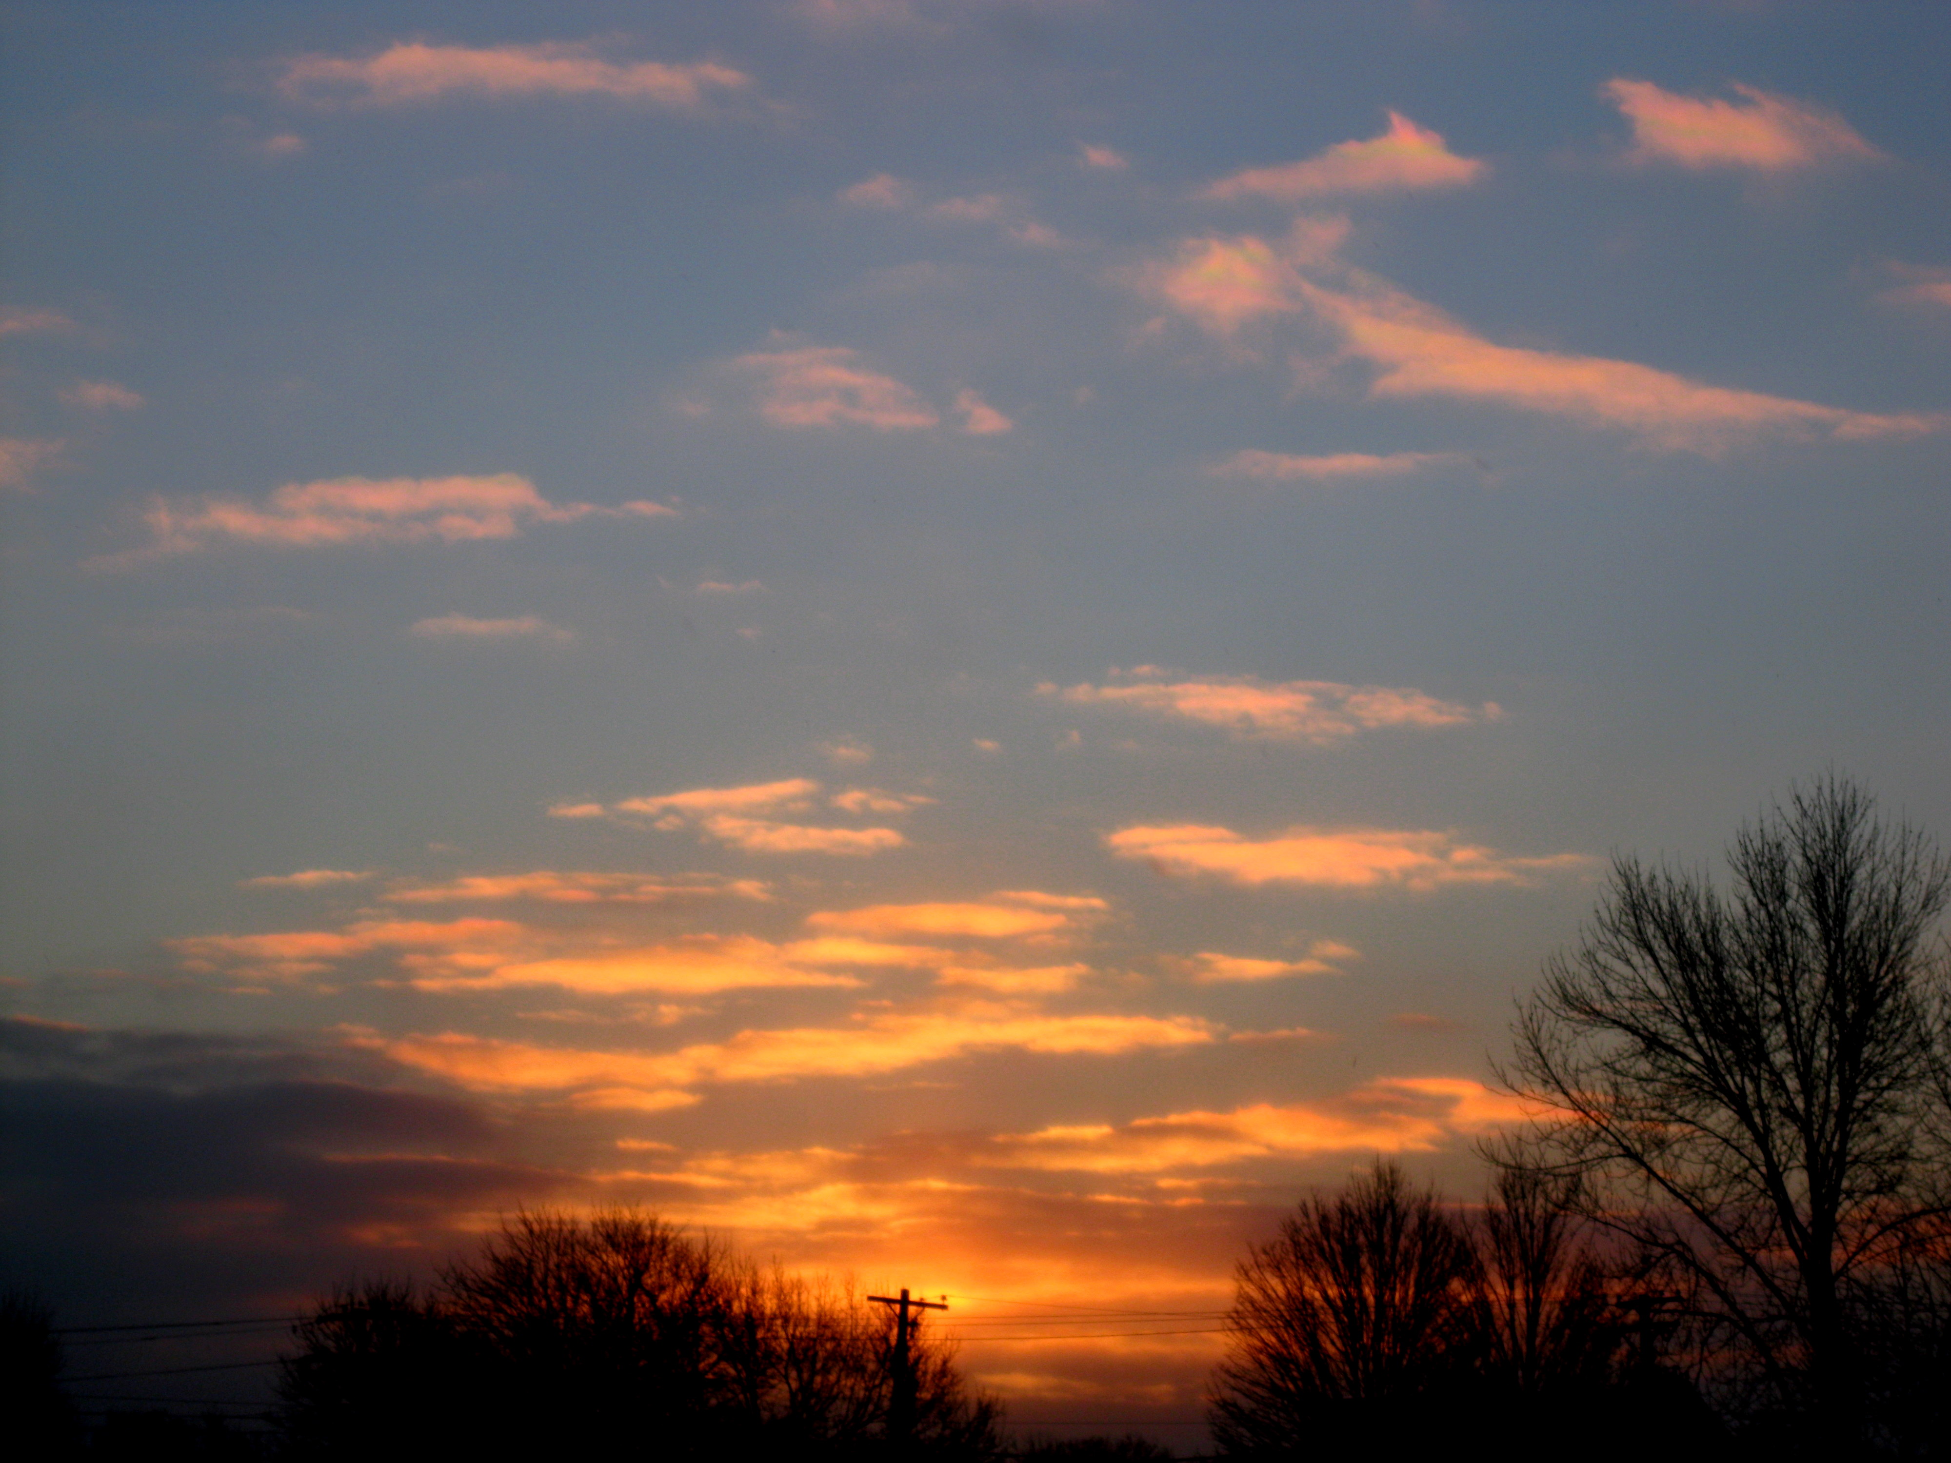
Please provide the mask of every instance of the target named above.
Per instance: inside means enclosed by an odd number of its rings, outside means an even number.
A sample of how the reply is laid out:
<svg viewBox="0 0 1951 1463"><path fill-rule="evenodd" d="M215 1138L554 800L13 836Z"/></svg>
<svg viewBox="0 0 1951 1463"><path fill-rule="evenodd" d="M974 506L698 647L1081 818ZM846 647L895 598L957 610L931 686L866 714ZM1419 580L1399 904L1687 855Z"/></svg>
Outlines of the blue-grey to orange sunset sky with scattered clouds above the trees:
<svg viewBox="0 0 1951 1463"><path fill-rule="evenodd" d="M1481 1192L1612 858L1824 771L1951 829L1947 64L6 4L6 1278L281 1315L640 1204L1198 1442L1284 1209Z"/></svg>

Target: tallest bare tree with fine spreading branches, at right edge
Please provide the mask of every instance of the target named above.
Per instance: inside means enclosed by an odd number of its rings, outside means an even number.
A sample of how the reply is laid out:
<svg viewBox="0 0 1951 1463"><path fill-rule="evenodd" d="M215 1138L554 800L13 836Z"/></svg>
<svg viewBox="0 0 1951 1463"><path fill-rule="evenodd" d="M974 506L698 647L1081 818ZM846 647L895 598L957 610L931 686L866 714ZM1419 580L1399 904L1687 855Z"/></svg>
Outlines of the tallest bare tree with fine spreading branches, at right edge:
<svg viewBox="0 0 1951 1463"><path fill-rule="evenodd" d="M1828 776L1729 850L1732 886L1623 858L1580 944L1522 1007L1516 1163L1699 1297L1775 1406L1853 1445L1851 1297L1941 1209L1951 866Z"/></svg>

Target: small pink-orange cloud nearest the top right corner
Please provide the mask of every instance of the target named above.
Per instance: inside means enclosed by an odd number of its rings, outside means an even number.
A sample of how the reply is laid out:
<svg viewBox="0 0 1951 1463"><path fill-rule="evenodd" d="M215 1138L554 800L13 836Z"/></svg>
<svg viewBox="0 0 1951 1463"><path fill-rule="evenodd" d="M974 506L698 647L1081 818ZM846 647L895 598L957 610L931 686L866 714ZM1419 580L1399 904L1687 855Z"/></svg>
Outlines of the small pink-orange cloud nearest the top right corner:
<svg viewBox="0 0 1951 1463"><path fill-rule="evenodd" d="M1744 99L1676 96L1615 76L1600 94L1633 123L1633 162L1787 172L1883 156L1834 111L1740 82L1732 90Z"/></svg>

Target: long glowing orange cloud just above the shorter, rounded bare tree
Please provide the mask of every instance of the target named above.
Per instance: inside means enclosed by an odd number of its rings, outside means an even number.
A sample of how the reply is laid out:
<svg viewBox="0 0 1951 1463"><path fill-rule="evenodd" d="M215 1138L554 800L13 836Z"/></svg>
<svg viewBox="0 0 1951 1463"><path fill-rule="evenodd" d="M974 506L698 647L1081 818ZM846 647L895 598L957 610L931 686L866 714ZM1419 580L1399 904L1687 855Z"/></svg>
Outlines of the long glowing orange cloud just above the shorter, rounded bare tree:
<svg viewBox="0 0 1951 1463"><path fill-rule="evenodd" d="M1524 1106L1467 1077L1383 1077L1327 1102L1175 1112L1124 1126L1059 1126L991 1139L977 1163L1155 1174L1253 1159L1405 1153L1524 1118Z"/></svg>

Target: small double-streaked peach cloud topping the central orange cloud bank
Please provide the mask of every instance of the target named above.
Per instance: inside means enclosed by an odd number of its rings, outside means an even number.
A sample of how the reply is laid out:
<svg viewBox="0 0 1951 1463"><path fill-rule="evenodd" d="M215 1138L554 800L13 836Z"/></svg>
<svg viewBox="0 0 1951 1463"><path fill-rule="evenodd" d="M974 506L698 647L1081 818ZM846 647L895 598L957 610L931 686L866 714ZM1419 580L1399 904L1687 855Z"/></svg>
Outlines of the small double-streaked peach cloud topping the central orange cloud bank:
<svg viewBox="0 0 1951 1463"><path fill-rule="evenodd" d="M554 817L650 819L665 833L697 831L745 852L866 856L899 849L907 839L892 827L829 827L802 821L821 808L839 813L905 813L933 802L915 794L878 788L843 788L827 794L814 778L784 778L739 788L691 788L611 804L560 804ZM796 817L792 817L796 815Z"/></svg>

